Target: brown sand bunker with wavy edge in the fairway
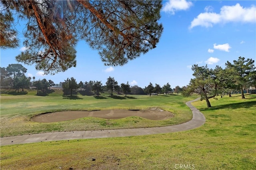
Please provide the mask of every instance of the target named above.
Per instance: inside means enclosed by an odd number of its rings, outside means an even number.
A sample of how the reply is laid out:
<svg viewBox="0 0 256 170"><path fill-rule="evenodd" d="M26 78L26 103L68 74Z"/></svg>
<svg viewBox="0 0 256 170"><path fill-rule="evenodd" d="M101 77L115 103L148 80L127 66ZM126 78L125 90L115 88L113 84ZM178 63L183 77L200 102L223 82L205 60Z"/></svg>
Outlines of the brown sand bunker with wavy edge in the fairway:
<svg viewBox="0 0 256 170"><path fill-rule="evenodd" d="M165 120L173 117L173 114L159 108L147 110L102 110L102 111L64 111L38 115L31 120L40 123L69 121L83 117L99 117L103 119L121 119L130 116L143 117L151 120Z"/></svg>

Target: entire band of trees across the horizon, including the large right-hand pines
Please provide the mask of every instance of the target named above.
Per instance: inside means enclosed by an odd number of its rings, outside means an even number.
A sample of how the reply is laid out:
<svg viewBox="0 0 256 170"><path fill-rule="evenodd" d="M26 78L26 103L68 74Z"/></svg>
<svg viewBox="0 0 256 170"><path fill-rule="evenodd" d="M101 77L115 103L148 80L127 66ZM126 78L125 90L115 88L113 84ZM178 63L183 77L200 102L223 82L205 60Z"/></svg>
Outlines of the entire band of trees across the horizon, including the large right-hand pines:
<svg viewBox="0 0 256 170"><path fill-rule="evenodd" d="M207 107L211 107L209 99L217 99L216 96L228 94L231 97L231 93L234 91L240 91L242 99L244 96L244 89L253 87L256 89L256 67L254 60L245 59L239 57L238 60L234 60L233 63L226 62L226 68L222 69L220 66L216 66L215 69L209 69L208 66L193 65L194 78L190 80L189 85L184 87L176 86L171 88L169 83L166 83L163 87L159 84L153 85L151 82L148 86L142 89L137 85L130 86L127 83L118 82L114 77L108 77L105 85L101 81L80 81L76 82L73 77L67 78L64 82L56 84L56 86L62 87L64 95L74 95L78 92L81 95L100 95L100 93L108 92L109 95L113 95L113 92L117 94L126 95L160 95L161 93L181 93L184 96L189 96L193 93L201 95L201 100L206 100ZM55 86L52 80L37 80L35 77L26 77L27 69L21 64L9 64L8 67L0 67L1 87L16 89L16 91L24 91L26 88L37 89L37 95L47 95L51 93L51 87ZM256 90L254 90L256 91Z"/></svg>

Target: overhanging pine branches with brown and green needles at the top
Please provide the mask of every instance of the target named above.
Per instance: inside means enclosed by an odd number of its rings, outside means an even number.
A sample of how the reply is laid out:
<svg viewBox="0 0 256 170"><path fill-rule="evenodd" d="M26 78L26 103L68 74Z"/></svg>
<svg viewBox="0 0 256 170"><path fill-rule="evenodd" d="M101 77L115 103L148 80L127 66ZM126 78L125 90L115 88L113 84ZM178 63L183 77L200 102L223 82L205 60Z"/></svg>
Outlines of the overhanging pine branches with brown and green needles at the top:
<svg viewBox="0 0 256 170"><path fill-rule="evenodd" d="M161 1L1 0L1 6L1 47L17 46L14 16L25 20L27 49L16 60L46 74L76 66L78 40L115 66L155 48L163 32Z"/></svg>

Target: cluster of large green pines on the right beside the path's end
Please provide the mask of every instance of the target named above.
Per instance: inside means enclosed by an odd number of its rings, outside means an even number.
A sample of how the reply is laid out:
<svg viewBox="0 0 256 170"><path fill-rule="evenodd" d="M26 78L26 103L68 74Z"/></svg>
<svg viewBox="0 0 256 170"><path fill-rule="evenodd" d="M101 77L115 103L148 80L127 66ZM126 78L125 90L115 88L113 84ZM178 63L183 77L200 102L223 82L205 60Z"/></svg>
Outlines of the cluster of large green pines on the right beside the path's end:
<svg viewBox="0 0 256 170"><path fill-rule="evenodd" d="M206 100L207 107L211 107L210 98L216 98L218 94L229 93L230 91L241 91L244 99L244 89L252 86L256 79L254 60L239 57L233 63L226 62L226 68L216 66L209 69L208 66L193 65L194 78L189 85L182 90L182 95L188 96L192 93L201 95L201 100ZM231 97L231 95L230 95Z"/></svg>

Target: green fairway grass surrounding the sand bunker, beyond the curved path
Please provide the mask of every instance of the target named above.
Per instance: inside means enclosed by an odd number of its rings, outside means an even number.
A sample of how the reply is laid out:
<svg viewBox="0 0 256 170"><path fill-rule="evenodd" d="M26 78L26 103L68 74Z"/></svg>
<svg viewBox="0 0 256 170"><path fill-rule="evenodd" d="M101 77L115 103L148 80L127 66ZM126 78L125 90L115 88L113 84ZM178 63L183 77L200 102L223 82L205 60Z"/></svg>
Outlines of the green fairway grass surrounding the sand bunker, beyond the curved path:
<svg viewBox="0 0 256 170"><path fill-rule="evenodd" d="M184 123L192 119L192 113L185 102L195 97L184 98L180 95L124 95L114 97L66 96L56 91L49 96L36 96L36 91L28 95L1 96L1 137L53 131L101 130L118 128L160 127ZM30 118L41 113L65 110L102 110L102 109L147 109L160 107L174 113L175 117L164 121L152 121L141 117L128 117L117 120L86 117L56 123L36 123Z"/></svg>

